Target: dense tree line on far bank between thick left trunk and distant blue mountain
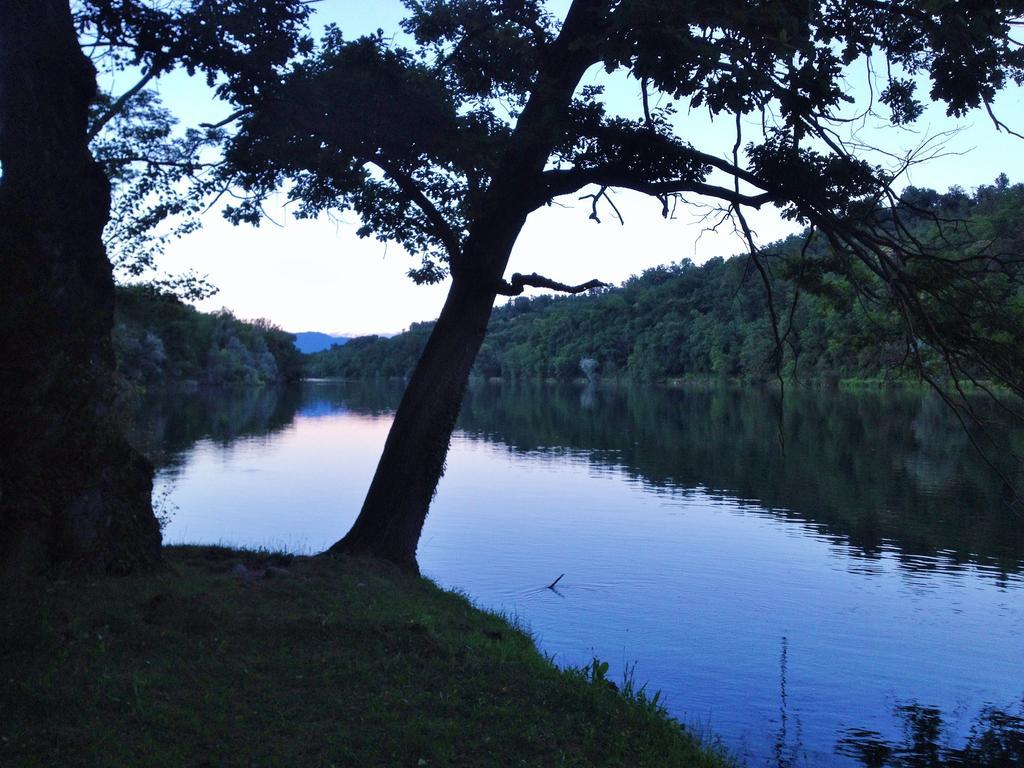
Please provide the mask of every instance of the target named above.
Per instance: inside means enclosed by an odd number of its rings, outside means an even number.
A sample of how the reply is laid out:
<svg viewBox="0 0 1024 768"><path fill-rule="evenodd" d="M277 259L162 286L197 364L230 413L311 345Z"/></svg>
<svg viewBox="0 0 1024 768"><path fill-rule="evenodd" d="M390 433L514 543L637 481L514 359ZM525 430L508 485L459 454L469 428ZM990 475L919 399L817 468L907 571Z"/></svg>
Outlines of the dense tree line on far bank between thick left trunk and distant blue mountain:
<svg viewBox="0 0 1024 768"><path fill-rule="evenodd" d="M151 286L117 291L114 349L133 387L195 382L261 386L301 376L295 337L267 321L200 312Z"/></svg>

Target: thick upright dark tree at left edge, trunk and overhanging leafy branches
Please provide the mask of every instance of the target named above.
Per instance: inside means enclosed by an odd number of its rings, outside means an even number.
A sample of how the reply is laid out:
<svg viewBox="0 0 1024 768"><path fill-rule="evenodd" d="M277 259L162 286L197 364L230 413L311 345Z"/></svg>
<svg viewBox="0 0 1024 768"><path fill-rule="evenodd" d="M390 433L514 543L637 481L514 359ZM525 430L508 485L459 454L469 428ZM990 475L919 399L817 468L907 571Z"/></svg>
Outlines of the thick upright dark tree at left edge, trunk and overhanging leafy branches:
<svg viewBox="0 0 1024 768"><path fill-rule="evenodd" d="M153 78L183 66L232 93L302 42L300 0L0 0L0 573L127 571L160 557L153 469L113 403L111 189L89 140ZM141 79L94 111L90 50ZM152 159L151 159L152 160ZM139 201L140 203L142 201Z"/></svg>

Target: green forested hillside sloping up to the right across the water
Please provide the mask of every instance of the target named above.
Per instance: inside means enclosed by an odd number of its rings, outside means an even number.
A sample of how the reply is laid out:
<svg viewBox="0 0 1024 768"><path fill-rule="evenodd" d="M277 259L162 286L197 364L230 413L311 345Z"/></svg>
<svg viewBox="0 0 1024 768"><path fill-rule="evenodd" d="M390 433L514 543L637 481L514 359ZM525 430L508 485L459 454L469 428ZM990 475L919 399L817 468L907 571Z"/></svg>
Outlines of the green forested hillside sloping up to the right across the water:
<svg viewBox="0 0 1024 768"><path fill-rule="evenodd" d="M1020 268L1024 253L1024 184L1000 176L973 196L958 187L940 195L908 188L900 207L906 237L942 242L950 252L1005 254L1005 268ZM814 237L813 256L798 272L795 258L806 234L765 249L782 342L782 371L800 380L899 376L908 340L896 315L867 310L862 292L879 278L843 280L843 255ZM850 267L852 269L852 266ZM906 265L907 269L914 265ZM1004 275L992 274L998 281ZM798 295L799 294L799 295ZM794 303L794 299L798 300ZM1011 297L1007 312L1024 312ZM406 376L432 324L414 325L393 338L364 337L311 355L310 376ZM765 283L750 259L683 260L655 267L620 287L570 297L519 297L495 309L475 373L486 377L571 379L581 360L597 361L604 377L638 381L721 376L757 381L775 375L777 349Z"/></svg>

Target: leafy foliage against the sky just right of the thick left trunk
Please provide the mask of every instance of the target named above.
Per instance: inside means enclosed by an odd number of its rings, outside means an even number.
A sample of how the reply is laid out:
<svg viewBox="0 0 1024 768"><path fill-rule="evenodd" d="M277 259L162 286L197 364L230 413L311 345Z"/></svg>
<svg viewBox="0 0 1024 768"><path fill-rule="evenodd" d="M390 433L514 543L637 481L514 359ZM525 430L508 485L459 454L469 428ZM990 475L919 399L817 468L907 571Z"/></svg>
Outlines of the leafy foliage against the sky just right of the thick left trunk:
<svg viewBox="0 0 1024 768"><path fill-rule="evenodd" d="M112 216L103 231L115 275L137 282L156 271L166 244L196 230L201 215L224 193L211 169L224 137L220 125L180 129L150 86L176 68L203 72L217 90L251 88L308 41L303 0L75 0L83 50L108 77L131 84L98 93L88 127L90 150L112 183ZM165 292L201 300L216 293L188 272L151 276Z"/></svg>

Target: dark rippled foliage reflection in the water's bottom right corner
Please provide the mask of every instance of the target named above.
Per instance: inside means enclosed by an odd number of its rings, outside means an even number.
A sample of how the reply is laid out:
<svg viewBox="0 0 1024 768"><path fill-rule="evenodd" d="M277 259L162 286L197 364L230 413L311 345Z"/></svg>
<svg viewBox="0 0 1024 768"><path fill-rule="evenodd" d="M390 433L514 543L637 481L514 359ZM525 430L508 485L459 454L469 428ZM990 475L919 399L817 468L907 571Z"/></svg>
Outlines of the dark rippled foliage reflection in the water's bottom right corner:
<svg viewBox="0 0 1024 768"><path fill-rule="evenodd" d="M942 713L920 703L901 705L900 741L872 730L851 728L837 745L840 755L865 768L1021 768L1024 766L1024 700L1016 712L986 707L963 746L949 744Z"/></svg>

